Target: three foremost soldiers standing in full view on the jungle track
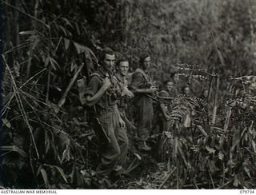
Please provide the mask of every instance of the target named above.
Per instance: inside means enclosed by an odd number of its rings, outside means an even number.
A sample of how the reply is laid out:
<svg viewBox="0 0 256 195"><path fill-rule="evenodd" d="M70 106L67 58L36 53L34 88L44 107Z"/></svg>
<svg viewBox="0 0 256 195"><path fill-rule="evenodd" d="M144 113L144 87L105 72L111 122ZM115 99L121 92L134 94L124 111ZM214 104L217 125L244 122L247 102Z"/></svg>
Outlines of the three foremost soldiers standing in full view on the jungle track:
<svg viewBox="0 0 256 195"><path fill-rule="evenodd" d="M86 86L86 105L94 106L98 121L103 131L97 135L101 141L101 161L97 172L99 175L125 173L124 165L128 150L128 137L126 126L133 126L126 117L125 109L128 101L134 99L137 106L138 149L149 151L147 145L152 129L153 102L150 98L156 88L152 86L152 78L148 72L150 68L150 55L144 54L139 61L140 67L134 71L130 90L128 90L127 74L129 62L121 58L116 64L117 73L114 75L115 54L113 50L105 49L99 59L100 67L90 76ZM115 93L116 92L116 93ZM131 128L136 129L136 128ZM96 129L97 132L97 129ZM109 141L102 142L102 135Z"/></svg>

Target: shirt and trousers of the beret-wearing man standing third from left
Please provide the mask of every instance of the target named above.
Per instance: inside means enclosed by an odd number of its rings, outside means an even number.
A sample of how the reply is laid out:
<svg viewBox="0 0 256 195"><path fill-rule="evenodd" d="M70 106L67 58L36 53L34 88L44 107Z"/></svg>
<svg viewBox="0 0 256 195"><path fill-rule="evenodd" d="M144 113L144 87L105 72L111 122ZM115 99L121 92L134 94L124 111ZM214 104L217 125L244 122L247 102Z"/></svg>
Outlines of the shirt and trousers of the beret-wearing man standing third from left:
<svg viewBox="0 0 256 195"><path fill-rule="evenodd" d="M137 69L132 76L130 88L131 90L149 89L149 83L152 83L150 74ZM153 102L146 94L135 94L134 105L138 108L138 138L147 141L152 130Z"/></svg>

